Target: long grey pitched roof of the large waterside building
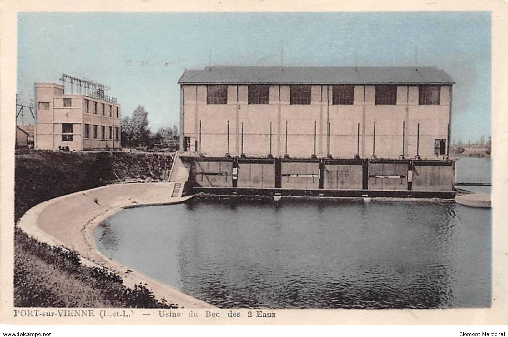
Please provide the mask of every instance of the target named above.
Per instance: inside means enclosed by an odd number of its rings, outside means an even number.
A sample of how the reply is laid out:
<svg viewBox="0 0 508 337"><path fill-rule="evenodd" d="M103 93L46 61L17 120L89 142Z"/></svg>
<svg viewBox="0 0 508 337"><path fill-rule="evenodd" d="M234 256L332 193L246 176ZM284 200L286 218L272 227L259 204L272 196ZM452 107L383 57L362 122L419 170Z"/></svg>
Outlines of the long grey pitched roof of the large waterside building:
<svg viewBox="0 0 508 337"><path fill-rule="evenodd" d="M453 84L436 66L207 66L180 84Z"/></svg>

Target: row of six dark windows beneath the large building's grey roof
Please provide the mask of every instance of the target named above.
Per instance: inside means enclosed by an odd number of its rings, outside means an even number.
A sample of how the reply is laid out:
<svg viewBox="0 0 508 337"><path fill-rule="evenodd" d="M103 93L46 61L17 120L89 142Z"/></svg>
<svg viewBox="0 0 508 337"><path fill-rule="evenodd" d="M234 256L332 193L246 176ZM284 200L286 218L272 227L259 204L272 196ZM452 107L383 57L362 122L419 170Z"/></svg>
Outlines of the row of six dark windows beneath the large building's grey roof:
<svg viewBox="0 0 508 337"><path fill-rule="evenodd" d="M290 85L290 104L305 105L310 104L310 85ZM249 85L248 86L248 104L268 104L270 96L269 85ZM419 86L419 104L420 105L439 105L441 88L438 85L420 85ZM332 86L332 104L333 105L351 105L355 99L354 85L333 85ZM206 92L206 104L227 104L228 86L227 85L208 85ZM375 104L376 105L395 105L397 104L397 86L396 85L376 85L375 86Z"/></svg>

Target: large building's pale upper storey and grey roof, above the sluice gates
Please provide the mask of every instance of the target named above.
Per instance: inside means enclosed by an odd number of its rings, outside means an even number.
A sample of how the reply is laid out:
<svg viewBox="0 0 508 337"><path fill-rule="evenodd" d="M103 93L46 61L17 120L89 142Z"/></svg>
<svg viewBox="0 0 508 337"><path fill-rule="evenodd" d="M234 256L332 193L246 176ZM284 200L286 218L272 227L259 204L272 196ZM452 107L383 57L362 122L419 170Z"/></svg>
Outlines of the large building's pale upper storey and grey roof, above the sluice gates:
<svg viewBox="0 0 508 337"><path fill-rule="evenodd" d="M211 66L186 70L181 148L207 156L449 153L453 79L435 66Z"/></svg>

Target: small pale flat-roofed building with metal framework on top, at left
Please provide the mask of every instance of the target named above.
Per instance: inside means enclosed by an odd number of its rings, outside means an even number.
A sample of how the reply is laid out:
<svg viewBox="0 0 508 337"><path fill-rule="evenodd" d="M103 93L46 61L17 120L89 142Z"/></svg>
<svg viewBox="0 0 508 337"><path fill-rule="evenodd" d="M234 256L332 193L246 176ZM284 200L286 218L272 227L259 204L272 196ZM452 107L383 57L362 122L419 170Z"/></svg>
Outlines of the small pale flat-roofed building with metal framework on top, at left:
<svg viewBox="0 0 508 337"><path fill-rule="evenodd" d="M120 149L120 105L105 94L109 87L65 74L61 80L62 84L35 84L35 148ZM65 84L71 93L64 92Z"/></svg>

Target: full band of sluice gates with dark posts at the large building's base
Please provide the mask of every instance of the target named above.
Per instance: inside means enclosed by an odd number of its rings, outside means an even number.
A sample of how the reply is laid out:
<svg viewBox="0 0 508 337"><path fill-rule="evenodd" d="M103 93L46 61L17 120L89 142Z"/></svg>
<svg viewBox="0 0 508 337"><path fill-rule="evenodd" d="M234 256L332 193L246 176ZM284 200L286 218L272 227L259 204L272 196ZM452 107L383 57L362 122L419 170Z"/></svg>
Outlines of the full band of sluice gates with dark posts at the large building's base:
<svg viewBox="0 0 508 337"><path fill-rule="evenodd" d="M455 160L179 157L186 191L219 195L454 198Z"/></svg>

